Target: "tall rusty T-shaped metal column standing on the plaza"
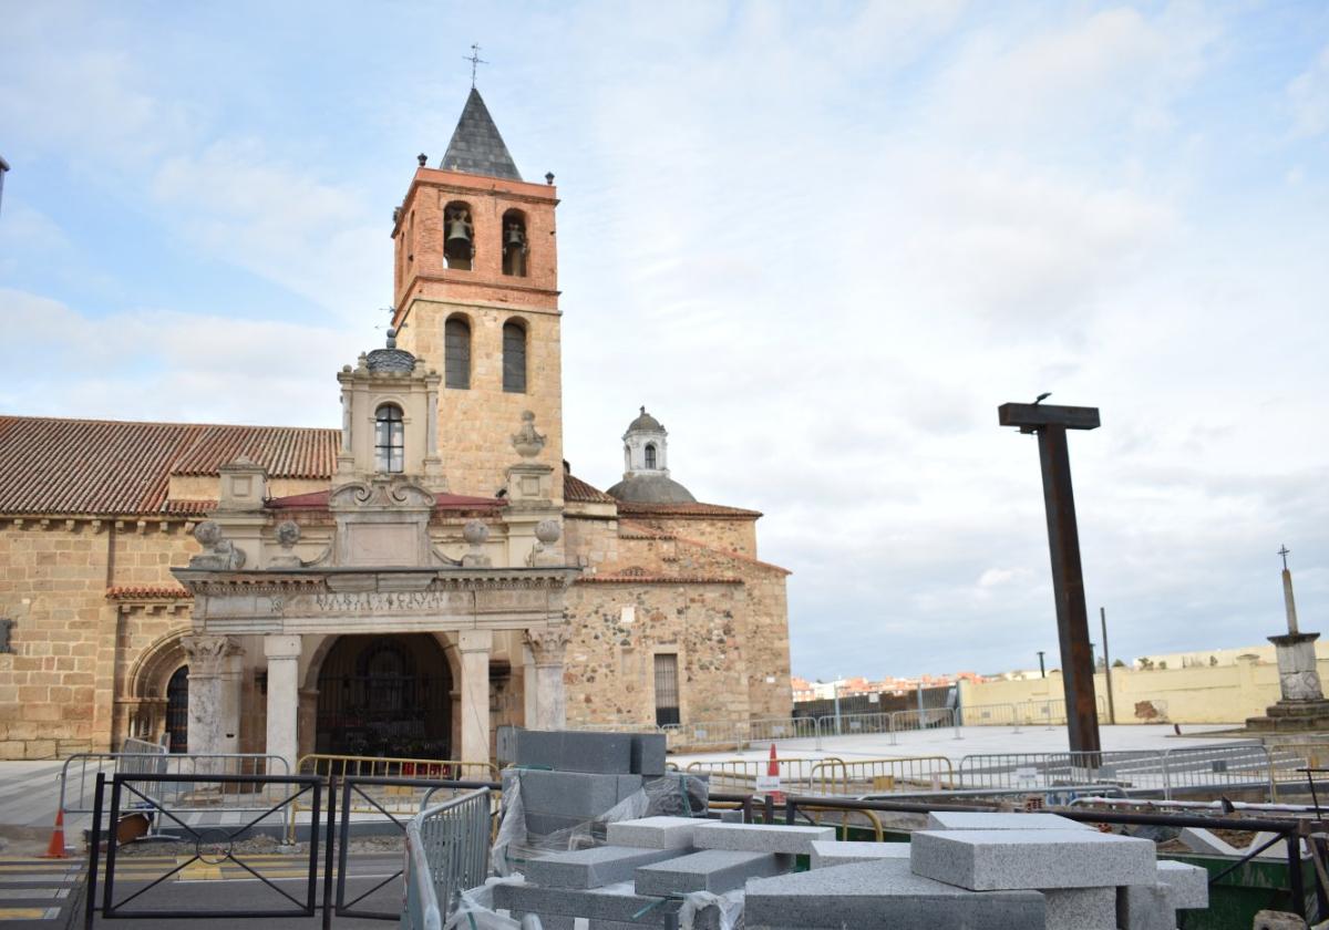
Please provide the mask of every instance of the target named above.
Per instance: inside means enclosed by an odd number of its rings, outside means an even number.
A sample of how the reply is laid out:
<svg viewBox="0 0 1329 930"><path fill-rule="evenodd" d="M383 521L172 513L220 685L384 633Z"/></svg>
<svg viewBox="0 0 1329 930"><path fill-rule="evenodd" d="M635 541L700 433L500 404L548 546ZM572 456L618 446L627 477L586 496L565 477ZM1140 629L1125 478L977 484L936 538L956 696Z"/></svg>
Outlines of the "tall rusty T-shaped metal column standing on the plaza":
<svg viewBox="0 0 1329 930"><path fill-rule="evenodd" d="M1071 490L1071 460L1066 448L1067 429L1098 428L1098 409L1041 407L1037 403L1002 404L998 420L1003 426L1019 426L1022 433L1038 434L1070 749L1098 753L1102 744L1098 733L1098 701L1094 696L1094 658L1088 640L1088 610L1084 606L1075 494ZM1084 763L1090 768L1098 768L1096 757Z"/></svg>

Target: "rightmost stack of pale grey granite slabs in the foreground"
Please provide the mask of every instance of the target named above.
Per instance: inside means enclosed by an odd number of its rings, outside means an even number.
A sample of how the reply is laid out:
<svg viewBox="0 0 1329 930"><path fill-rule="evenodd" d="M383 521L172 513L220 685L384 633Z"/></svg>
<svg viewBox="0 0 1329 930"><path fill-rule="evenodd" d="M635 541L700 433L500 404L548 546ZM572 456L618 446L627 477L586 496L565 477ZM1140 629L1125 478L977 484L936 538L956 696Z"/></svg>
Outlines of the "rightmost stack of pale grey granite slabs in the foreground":
<svg viewBox="0 0 1329 930"><path fill-rule="evenodd" d="M748 930L1174 930L1208 873L1055 814L934 813L905 844L817 842L813 870L746 886Z"/></svg>

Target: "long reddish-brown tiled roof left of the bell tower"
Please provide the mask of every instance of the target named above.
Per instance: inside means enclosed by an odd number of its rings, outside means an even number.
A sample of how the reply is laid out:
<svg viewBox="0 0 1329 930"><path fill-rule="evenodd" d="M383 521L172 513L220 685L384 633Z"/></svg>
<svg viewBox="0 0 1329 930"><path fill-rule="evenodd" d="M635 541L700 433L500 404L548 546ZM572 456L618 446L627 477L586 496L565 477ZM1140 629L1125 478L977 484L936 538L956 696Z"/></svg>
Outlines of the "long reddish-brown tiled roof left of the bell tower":
<svg viewBox="0 0 1329 930"><path fill-rule="evenodd" d="M336 429L0 417L0 513L202 513L171 502L171 473L209 476L245 454L274 478L331 478Z"/></svg>

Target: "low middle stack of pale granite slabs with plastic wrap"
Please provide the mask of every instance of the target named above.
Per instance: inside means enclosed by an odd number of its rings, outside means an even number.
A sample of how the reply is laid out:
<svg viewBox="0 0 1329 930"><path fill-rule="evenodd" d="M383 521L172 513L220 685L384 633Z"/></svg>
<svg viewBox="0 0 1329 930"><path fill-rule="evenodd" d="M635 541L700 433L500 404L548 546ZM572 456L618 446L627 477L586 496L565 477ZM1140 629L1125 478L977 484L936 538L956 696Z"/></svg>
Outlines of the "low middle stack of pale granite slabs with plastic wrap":
<svg viewBox="0 0 1329 930"><path fill-rule="evenodd" d="M497 907L537 914L545 930L662 926L687 895L722 895L755 878L785 876L797 856L835 838L829 826L727 824L692 817L646 817L607 826L607 845L553 853L526 862L525 885L494 887ZM719 930L719 907L702 907L694 926Z"/></svg>

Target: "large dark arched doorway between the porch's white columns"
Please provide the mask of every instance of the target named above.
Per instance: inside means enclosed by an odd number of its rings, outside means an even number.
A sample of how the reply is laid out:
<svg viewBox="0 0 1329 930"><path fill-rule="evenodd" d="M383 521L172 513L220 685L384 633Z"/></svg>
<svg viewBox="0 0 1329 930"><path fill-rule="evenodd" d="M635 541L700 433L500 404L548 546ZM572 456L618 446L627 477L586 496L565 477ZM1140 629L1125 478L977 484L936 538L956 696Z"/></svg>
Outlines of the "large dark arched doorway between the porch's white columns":
<svg viewBox="0 0 1329 930"><path fill-rule="evenodd" d="M451 759L452 675L428 634L342 636L319 670L315 752Z"/></svg>

